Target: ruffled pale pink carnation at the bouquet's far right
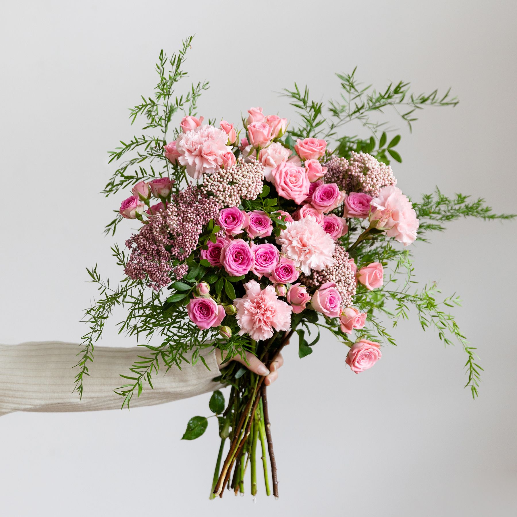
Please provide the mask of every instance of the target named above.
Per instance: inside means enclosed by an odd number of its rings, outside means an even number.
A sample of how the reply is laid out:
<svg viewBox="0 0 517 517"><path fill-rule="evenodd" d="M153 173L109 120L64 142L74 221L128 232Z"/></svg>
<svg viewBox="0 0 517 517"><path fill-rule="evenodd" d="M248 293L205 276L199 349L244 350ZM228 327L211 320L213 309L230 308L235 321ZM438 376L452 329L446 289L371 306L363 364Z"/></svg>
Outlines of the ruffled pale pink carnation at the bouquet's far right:
<svg viewBox="0 0 517 517"><path fill-rule="evenodd" d="M402 242L404 246L417 238L419 221L412 203L397 187L384 187L372 200L375 211L370 221L378 221L376 227L386 230L388 237Z"/></svg>

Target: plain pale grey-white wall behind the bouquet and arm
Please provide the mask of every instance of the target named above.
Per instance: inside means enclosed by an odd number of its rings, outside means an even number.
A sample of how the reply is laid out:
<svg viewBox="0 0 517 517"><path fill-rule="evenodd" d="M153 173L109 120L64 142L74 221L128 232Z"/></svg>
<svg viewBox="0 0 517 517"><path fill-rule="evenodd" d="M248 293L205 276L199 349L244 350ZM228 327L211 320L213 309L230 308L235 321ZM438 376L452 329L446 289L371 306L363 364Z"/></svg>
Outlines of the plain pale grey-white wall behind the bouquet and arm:
<svg viewBox="0 0 517 517"><path fill-rule="evenodd" d="M517 211L516 14L510 0L4 2L0 341L78 341L94 295L84 267L120 276L109 247L130 229L102 236L123 198L98 194L113 170L105 151L138 131L127 108L152 92L159 50L191 33L187 69L212 84L205 116L238 121L257 104L292 116L275 92L296 80L316 99L337 96L333 73L356 64L380 87L453 86L457 108L422 112L412 135L403 128L399 186L418 197L438 184ZM179 440L190 416L207 413L202 396L3 417L2 515L515 515L515 237L515 223L462 220L415 250L418 278L465 300L456 313L485 368L479 400L462 389L460 347L415 321L362 375L344 370L327 336L303 361L288 349L271 389L279 501L208 501L216 430ZM110 328L103 344L134 342Z"/></svg>

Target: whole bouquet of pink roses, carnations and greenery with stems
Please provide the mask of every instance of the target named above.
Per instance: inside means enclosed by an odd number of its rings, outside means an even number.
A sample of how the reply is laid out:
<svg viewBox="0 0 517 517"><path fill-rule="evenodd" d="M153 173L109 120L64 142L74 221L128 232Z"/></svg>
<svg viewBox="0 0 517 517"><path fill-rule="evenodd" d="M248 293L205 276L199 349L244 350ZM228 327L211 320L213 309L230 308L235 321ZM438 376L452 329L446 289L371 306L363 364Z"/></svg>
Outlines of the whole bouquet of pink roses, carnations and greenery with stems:
<svg viewBox="0 0 517 517"><path fill-rule="evenodd" d="M262 108L250 108L239 125L205 120L196 104L207 82L184 95L175 91L191 40L171 58L160 53L154 95L130 110L131 124L144 118L144 134L110 152L110 162L121 165L103 193L131 188L132 195L105 231L114 234L123 219L140 227L126 240L127 250L112 248L124 268L118 286L101 279L97 266L88 269L100 296L86 311L89 331L75 380L82 395L94 343L117 305L127 308L120 332L144 338L147 351L121 374L122 407L153 388L160 367L186 367L186 353L204 361L202 351L218 348L218 380L231 389L227 404L220 390L209 401L221 438L210 497L222 497L226 486L244 493L247 471L255 496L257 464L266 494L272 489L278 497L264 377L231 359L252 352L269 366L293 333L304 358L325 328L359 374L381 359L382 345L395 344L386 322L396 326L414 306L423 330L433 327L446 344L461 344L466 386L476 397L482 368L448 312L460 300L439 299L435 283L415 291L409 246L459 217L513 216L438 189L412 202L398 186L392 161L402 161L401 136L388 136L385 123L372 116L395 108L411 126L428 105L456 105L449 92L415 95L402 81L375 90L358 83L354 70L338 74L342 95L329 102L327 116L323 103L295 84L284 94L297 124ZM368 138L342 133L354 120ZM154 337L159 343L150 343ZM183 438L201 436L207 425L206 417L193 417Z"/></svg>

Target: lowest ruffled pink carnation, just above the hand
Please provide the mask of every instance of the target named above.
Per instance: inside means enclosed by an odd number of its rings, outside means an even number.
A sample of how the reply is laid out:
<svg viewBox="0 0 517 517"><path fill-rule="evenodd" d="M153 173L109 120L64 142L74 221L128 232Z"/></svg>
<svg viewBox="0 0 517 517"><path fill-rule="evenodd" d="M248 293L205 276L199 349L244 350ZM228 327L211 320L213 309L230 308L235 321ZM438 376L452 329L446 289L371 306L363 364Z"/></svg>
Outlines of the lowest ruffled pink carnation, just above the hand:
<svg viewBox="0 0 517 517"><path fill-rule="evenodd" d="M275 287L261 290L258 282L250 280L244 288L246 295L234 300L240 336L249 334L259 341L271 338L273 329L279 332L291 327L291 306L278 299Z"/></svg>

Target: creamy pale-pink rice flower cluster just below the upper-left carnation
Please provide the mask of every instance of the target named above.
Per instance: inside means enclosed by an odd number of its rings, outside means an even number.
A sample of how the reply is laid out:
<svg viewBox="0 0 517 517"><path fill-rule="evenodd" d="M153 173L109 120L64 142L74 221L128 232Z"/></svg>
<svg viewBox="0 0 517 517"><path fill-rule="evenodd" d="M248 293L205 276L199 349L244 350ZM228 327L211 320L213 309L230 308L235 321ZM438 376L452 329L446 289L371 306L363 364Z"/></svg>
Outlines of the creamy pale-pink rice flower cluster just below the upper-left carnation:
<svg viewBox="0 0 517 517"><path fill-rule="evenodd" d="M239 159L229 169L216 169L205 176L200 190L219 208L239 206L241 199L254 200L262 192L264 165L256 159Z"/></svg>

